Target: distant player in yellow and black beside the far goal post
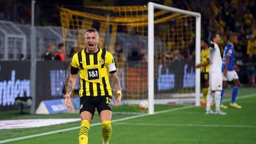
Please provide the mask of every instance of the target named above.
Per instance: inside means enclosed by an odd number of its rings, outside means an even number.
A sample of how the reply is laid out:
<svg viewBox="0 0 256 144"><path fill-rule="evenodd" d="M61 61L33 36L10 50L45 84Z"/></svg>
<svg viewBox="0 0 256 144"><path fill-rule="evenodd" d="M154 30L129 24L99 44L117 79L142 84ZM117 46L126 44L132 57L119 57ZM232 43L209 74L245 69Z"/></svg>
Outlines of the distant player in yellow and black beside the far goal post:
<svg viewBox="0 0 256 144"><path fill-rule="evenodd" d="M201 82L203 84L203 99L201 106L206 106L206 96L209 90L209 43L208 40L201 40L201 63L196 65L196 68L201 68Z"/></svg>

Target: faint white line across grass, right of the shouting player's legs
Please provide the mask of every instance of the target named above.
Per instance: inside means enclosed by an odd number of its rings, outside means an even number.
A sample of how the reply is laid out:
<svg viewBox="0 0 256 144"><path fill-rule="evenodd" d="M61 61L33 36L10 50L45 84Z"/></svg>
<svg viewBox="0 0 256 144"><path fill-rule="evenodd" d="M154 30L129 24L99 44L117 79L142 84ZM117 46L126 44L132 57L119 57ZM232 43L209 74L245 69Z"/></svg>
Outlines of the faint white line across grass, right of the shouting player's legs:
<svg viewBox="0 0 256 144"><path fill-rule="evenodd" d="M191 126L191 127L226 127L226 128L256 128L252 125L199 125L199 124L178 124L178 123L114 123L115 125L134 126Z"/></svg>

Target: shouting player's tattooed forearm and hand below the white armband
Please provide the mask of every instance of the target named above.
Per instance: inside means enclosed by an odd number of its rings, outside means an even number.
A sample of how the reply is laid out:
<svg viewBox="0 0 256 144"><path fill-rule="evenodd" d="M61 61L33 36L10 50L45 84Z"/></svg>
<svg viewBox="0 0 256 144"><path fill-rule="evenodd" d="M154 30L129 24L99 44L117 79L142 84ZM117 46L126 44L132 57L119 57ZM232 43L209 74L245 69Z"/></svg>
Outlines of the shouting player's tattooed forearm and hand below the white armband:
<svg viewBox="0 0 256 144"><path fill-rule="evenodd" d="M114 90L117 92L117 106L121 104L122 99L122 91L121 91L121 84L119 81L119 77L117 76L117 72L111 74L112 77L112 84L114 86Z"/></svg>

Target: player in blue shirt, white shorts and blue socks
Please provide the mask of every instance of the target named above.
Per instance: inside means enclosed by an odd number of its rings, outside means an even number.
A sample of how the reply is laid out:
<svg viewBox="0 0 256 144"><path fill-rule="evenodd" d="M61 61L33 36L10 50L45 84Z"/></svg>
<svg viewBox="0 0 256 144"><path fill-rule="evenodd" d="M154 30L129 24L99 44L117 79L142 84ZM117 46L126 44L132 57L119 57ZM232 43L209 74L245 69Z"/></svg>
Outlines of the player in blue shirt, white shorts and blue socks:
<svg viewBox="0 0 256 144"><path fill-rule="evenodd" d="M232 99L230 103L230 107L241 109L242 106L239 106L235 103L236 96L238 95L240 82L237 72L239 71L239 67L235 65L235 48L234 45L238 44L238 36L230 35L230 43L225 46L223 52L223 63L222 63L222 71L223 71L223 90L221 92L221 99L223 98L225 88L227 87L228 81L233 81L234 87L232 92ZM224 106L221 104L220 99L220 108L228 109L228 106Z"/></svg>

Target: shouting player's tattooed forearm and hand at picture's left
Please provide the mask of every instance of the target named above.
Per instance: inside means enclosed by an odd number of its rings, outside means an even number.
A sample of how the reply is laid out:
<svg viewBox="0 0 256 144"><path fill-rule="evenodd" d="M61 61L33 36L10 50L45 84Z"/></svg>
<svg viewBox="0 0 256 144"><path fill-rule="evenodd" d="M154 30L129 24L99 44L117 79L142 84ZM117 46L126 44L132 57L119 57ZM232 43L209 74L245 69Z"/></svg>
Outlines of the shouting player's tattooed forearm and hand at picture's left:
<svg viewBox="0 0 256 144"><path fill-rule="evenodd" d="M70 77L68 79L68 86L67 86L67 92L65 93L65 105L70 108L71 106L71 99L70 96L73 92L73 89L75 89L75 82L78 77L78 74L70 74Z"/></svg>

